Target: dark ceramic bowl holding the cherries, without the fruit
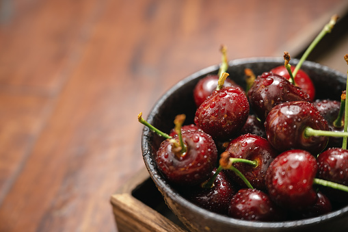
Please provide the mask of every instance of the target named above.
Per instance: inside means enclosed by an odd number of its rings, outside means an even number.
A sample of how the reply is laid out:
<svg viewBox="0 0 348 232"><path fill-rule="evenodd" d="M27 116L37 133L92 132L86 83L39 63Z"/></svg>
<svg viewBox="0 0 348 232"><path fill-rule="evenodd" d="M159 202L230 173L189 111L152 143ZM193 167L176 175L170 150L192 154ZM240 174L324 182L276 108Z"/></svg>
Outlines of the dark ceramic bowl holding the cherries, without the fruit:
<svg viewBox="0 0 348 232"><path fill-rule="evenodd" d="M291 60L296 64L297 60ZM284 60L273 57L256 57L233 60L229 63L228 73L239 85L245 86L244 69L251 68L255 75L260 75L279 65ZM174 127L177 114L186 114L185 124L193 123L196 105L193 101L193 88L199 79L207 74L217 73L219 66L211 66L179 81L155 103L147 120L161 131L169 133ZM345 89L346 77L336 70L313 62L304 62L302 69L308 73L316 88L316 99L340 99ZM144 162L152 180L163 195L165 202L174 214L191 231L348 231L348 206L330 214L306 220L286 222L250 222L237 220L212 213L187 201L166 181L157 169L154 154L163 138L151 132L147 127L142 134L142 153Z"/></svg>

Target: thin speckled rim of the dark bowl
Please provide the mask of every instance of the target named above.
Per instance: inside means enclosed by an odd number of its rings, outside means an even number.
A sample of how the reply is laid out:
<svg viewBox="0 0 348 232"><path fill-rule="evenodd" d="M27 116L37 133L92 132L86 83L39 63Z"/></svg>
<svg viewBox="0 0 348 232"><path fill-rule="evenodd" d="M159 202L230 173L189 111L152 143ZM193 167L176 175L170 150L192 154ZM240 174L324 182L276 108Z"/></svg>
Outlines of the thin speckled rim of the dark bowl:
<svg viewBox="0 0 348 232"><path fill-rule="evenodd" d="M242 64L250 64L250 63L255 63L255 62L267 62L267 63L282 63L284 62L284 59L281 57L247 57L247 58L241 58L241 59L235 59L235 60L230 60L228 62L229 68L233 68L233 66L238 66ZM292 59L291 64L297 64L299 60L297 59ZM328 66L324 66L322 64L316 63L316 62L310 62L310 61L304 61L303 66L308 67L308 68L320 68L323 70L326 70L330 73L333 73L334 75L340 76L342 78L346 78L343 73L338 72L337 70L334 70ZM152 123L152 120L154 119L155 114L158 112L159 107L163 104L165 99L170 96L173 92L178 90L181 86L185 85L185 83L196 79L198 77L201 77L202 75L206 75L209 73L217 72L219 69L219 64L215 64L213 66L209 66L206 68L202 68L201 70L198 70L196 73L193 73L184 79L181 79L178 81L172 88L170 88L168 91L166 91L160 99L155 103L154 107L150 110L150 114L148 115L148 122ZM202 207L199 207L198 205L195 205L194 203L191 203L187 199L185 199L183 196L180 196L174 188L170 186L170 184L164 179L164 177L161 176L161 173L159 170L157 170L156 165L154 162L150 162L150 157L146 157L150 144L146 142L145 138L148 138L147 136L149 135L150 130L147 127L144 127L143 133L142 133L142 153L143 153L143 158L144 158L144 163L146 165L146 168L148 172L155 172L155 175L160 178L155 179L153 175L150 175L152 180L155 182L157 185L157 188L162 194L168 195L172 201L174 201L176 204L179 204L180 207L187 208L191 211L195 211L196 214L199 214L202 216L202 218L211 218L215 220L216 222L221 222L224 224L235 224L238 226L243 226L245 228L249 229L292 229L293 227L299 228L299 227L306 227L311 224L317 224L319 222L322 222L323 220L332 220L333 218L338 218L338 217L343 217L348 215L348 205L341 208L337 209L336 211L332 211L328 214L325 214L323 216L317 216L314 218L306 218L306 219L301 219L301 220L289 220L289 221L284 221L284 222L260 222L260 221L248 221L248 220L240 220L237 218L231 218L229 216L224 216L221 214L216 214L214 212L211 212L207 209L204 209ZM146 160L147 159L147 160ZM163 192L165 191L165 192ZM169 206L169 205L168 205ZM170 206L169 206L170 207Z"/></svg>

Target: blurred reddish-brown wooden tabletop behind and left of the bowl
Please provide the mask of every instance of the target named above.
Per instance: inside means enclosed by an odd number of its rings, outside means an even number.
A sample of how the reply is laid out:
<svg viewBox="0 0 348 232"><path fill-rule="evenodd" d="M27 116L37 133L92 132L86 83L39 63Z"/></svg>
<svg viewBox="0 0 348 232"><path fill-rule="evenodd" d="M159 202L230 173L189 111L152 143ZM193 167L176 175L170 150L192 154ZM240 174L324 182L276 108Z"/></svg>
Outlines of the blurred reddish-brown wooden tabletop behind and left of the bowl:
<svg viewBox="0 0 348 232"><path fill-rule="evenodd" d="M297 55L346 12L347 0L1 0L0 231L117 231L110 196L144 168L139 112L218 64L221 44L230 60ZM321 61L345 73L337 44Z"/></svg>

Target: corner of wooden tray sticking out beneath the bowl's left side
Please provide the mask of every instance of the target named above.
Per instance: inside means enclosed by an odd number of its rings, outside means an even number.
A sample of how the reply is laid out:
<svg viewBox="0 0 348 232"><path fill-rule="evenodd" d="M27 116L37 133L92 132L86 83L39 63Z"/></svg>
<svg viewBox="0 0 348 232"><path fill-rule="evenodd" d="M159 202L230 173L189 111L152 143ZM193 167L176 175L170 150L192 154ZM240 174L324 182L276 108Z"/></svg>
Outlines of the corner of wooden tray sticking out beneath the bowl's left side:
<svg viewBox="0 0 348 232"><path fill-rule="evenodd" d="M111 196L111 205L120 232L187 231L165 205L146 168Z"/></svg>

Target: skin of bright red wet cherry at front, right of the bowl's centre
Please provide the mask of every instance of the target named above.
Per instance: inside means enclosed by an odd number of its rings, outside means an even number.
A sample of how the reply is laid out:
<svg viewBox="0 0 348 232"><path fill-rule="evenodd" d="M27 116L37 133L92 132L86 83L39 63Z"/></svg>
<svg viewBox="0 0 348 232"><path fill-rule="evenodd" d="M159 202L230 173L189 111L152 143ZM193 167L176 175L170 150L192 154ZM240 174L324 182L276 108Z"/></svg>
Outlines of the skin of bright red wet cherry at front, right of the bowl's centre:
<svg viewBox="0 0 348 232"><path fill-rule="evenodd" d="M269 166L265 181L269 196L282 207L302 210L314 205L317 192L312 188L317 160L303 150L285 151Z"/></svg>

